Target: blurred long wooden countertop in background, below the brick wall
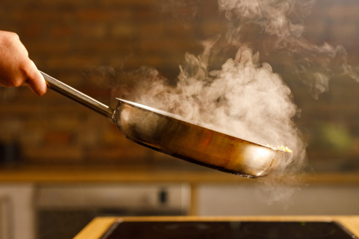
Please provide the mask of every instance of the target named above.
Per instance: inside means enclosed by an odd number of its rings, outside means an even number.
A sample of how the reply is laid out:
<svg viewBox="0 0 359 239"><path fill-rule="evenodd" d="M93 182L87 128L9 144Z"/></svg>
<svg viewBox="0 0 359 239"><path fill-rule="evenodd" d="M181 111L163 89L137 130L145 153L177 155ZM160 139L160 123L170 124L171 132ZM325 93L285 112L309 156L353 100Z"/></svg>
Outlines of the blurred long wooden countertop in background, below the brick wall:
<svg viewBox="0 0 359 239"><path fill-rule="evenodd" d="M0 168L0 183L253 183L237 175L205 167L200 170L121 165L17 165ZM270 176L269 176L270 177ZM303 173L286 175L283 180L300 179L309 184L358 185L359 172Z"/></svg>

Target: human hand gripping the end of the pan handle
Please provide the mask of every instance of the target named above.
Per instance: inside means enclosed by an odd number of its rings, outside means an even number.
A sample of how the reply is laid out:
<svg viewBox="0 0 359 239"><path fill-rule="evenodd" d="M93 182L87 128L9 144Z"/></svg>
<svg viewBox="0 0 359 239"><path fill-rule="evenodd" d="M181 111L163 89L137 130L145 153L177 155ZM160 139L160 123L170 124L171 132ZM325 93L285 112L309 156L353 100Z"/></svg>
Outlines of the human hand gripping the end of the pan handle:
<svg viewBox="0 0 359 239"><path fill-rule="evenodd" d="M19 36L0 31L0 86L20 85L28 85L38 95L45 94L47 90L43 76L30 60Z"/></svg>

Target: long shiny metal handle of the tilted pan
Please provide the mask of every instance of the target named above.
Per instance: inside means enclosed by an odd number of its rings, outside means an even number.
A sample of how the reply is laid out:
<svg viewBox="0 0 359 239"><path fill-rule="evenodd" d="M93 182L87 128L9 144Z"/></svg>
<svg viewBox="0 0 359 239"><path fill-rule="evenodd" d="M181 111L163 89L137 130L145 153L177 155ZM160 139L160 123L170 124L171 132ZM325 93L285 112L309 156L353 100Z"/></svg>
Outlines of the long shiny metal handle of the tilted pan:
<svg viewBox="0 0 359 239"><path fill-rule="evenodd" d="M47 87L61 95L64 95L65 97L82 104L83 106L92 109L93 111L102 114L103 116L106 116L107 118L110 118L112 121L114 120L114 112L115 110L111 107L106 106L106 104L103 104L94 98L89 97L88 95L72 88L69 85L66 85L62 83L59 80L56 80L55 78L45 74L44 72L40 71L40 73L43 75Z"/></svg>

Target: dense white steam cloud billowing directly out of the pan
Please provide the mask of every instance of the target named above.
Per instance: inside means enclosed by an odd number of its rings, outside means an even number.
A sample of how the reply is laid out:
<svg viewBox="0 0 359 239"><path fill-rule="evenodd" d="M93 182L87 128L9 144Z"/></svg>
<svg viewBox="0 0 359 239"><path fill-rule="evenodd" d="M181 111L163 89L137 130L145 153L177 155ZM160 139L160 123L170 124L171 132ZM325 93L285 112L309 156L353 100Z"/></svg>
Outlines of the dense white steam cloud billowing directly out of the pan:
<svg viewBox="0 0 359 239"><path fill-rule="evenodd" d="M305 147L292 117L297 107L290 89L267 63L258 63L259 53L239 47L235 57L219 70L208 71L211 47L216 39L204 42L204 52L186 54L176 86L167 84L154 69L146 69L146 81L137 85L131 100L162 109L208 128L261 144L286 145L293 154L281 163L302 164Z"/></svg>

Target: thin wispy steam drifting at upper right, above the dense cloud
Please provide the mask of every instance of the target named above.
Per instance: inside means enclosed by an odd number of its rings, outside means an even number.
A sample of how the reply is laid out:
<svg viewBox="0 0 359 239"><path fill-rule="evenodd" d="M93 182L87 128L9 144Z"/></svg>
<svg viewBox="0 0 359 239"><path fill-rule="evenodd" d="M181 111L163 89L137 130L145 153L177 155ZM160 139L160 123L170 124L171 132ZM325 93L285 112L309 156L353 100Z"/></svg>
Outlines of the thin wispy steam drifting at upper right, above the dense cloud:
<svg viewBox="0 0 359 239"><path fill-rule="evenodd" d="M284 54L288 70L296 73L317 99L328 90L328 81L334 75L346 74L359 81L359 69L348 65L344 47L325 42L315 45L302 36L303 18L310 14L314 3L315 0L218 0L218 7L230 22L226 35L230 44L254 42L241 30L257 26L263 37L258 50Z"/></svg>

